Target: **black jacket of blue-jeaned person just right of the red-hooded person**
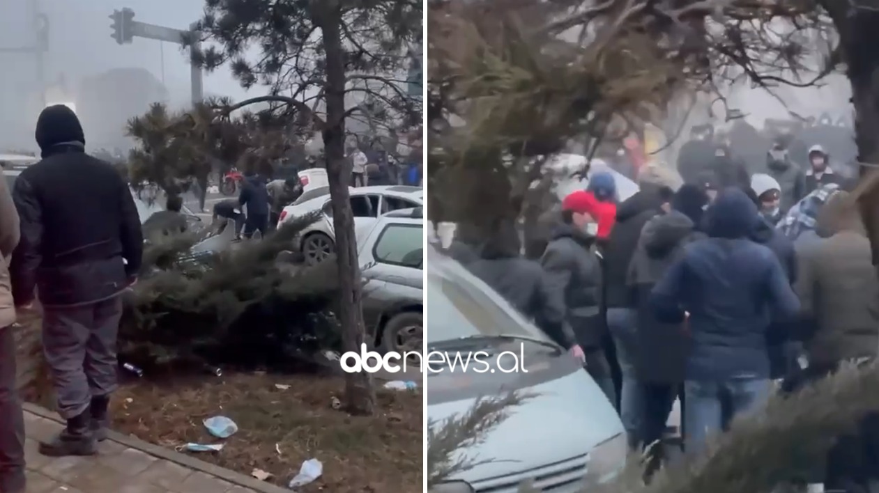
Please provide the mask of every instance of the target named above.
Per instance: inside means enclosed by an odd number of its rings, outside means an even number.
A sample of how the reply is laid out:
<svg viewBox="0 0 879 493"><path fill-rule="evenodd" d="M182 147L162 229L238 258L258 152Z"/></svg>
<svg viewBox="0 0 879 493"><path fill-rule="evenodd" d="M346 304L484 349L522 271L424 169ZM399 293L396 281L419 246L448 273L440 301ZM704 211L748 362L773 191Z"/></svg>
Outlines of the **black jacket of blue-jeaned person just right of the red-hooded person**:
<svg viewBox="0 0 879 493"><path fill-rule="evenodd" d="M652 191L636 192L616 208L616 223L602 250L605 259L605 302L607 308L632 308L632 296L626 286L626 272L632 261L641 229L659 213L661 199Z"/></svg>

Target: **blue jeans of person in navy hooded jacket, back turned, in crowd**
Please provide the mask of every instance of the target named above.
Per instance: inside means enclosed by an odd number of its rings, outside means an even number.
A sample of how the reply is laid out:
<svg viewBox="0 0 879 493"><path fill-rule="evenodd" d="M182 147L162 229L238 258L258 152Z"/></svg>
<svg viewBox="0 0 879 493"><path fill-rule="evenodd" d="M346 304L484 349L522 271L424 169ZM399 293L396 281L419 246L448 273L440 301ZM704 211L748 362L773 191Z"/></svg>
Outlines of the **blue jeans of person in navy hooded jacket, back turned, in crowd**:
<svg viewBox="0 0 879 493"><path fill-rule="evenodd" d="M772 394L772 381L734 377L723 381L684 382L686 453L698 455L708 438L726 431L734 417L760 410Z"/></svg>

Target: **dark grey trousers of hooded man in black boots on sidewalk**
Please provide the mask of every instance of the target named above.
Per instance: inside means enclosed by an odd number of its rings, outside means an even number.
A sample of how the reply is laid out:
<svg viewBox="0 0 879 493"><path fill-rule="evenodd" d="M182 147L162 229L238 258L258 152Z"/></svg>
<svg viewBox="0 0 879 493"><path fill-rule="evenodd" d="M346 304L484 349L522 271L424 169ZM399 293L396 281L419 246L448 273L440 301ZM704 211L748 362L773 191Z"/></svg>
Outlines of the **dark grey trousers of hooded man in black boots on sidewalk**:
<svg viewBox="0 0 879 493"><path fill-rule="evenodd" d="M43 351L52 372L58 414L79 416L91 397L116 389L116 338L122 298L43 308Z"/></svg>

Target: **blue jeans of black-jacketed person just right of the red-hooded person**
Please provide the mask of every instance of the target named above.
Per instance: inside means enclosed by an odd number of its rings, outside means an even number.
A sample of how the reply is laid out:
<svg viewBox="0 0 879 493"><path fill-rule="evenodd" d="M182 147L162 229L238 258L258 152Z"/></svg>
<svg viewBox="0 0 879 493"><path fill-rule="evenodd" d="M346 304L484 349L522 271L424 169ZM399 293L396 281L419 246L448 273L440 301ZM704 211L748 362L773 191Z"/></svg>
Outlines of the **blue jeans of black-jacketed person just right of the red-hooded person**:
<svg viewBox="0 0 879 493"><path fill-rule="evenodd" d="M628 446L635 449L641 442L643 399L635 373L637 312L632 308L607 308L607 330L614 338L616 359L620 363L620 419L628 435Z"/></svg>

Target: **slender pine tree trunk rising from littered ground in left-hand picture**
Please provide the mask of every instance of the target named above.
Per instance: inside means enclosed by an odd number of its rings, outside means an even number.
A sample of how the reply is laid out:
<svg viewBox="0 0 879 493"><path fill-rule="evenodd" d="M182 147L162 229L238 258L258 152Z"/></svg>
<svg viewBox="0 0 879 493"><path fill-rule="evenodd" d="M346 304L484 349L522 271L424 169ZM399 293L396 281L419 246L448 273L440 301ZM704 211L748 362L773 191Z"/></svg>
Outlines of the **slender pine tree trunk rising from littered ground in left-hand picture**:
<svg viewBox="0 0 879 493"><path fill-rule="evenodd" d="M323 31L323 51L326 56L325 97L327 107L323 148L327 160L327 178L336 233L338 286L342 299L338 320L342 324L345 351L360 352L366 344L363 310L360 306L360 264L357 259L357 239L354 236L354 214L348 194L351 169L345 160L345 49L342 47L341 19L336 2L324 0L315 5L316 24ZM345 407L355 414L373 415L375 389L370 373L345 373Z"/></svg>

